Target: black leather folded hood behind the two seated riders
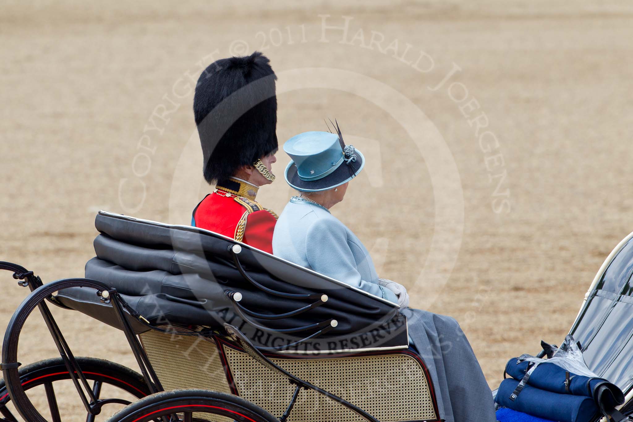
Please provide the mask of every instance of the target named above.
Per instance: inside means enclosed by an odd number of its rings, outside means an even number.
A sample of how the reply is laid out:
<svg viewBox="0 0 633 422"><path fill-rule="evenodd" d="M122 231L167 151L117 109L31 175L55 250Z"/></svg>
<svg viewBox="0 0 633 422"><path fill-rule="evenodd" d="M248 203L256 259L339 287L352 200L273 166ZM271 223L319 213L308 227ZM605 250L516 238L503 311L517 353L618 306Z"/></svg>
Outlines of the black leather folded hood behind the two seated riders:
<svg viewBox="0 0 633 422"><path fill-rule="evenodd" d="M289 344L314 332L281 336L258 330L235 313L224 294L226 290L240 292L240 304L260 314L289 313L314 302L277 297L248 282L237 270L229 251L230 246L240 244L240 263L261 285L285 293L328 296L325 304L297 316L253 318L256 324L273 330L329 319L337 321L329 333L299 345L297 351L394 349L408 345L406 319L391 302L222 235L104 211L97 214L95 225L100 233L94 240L97 256L86 264L86 278L116 289L134 313L152 325L203 325L220 330L226 321L241 327L256 345L264 347ZM94 290L65 289L58 299L118 327L113 309L103 304ZM147 329L135 316L129 318L137 332Z"/></svg>

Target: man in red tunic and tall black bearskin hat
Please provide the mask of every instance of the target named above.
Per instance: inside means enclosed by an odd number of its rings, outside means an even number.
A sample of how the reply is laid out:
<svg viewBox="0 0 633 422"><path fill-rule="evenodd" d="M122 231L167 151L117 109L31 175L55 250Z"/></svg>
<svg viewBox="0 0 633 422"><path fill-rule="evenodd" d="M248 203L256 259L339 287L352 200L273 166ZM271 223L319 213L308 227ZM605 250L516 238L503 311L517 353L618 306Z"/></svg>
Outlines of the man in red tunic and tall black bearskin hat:
<svg viewBox="0 0 633 422"><path fill-rule="evenodd" d="M275 180L276 78L259 52L220 59L200 75L194 96L204 179L215 190L197 204L191 225L270 253L277 214L255 197Z"/></svg>

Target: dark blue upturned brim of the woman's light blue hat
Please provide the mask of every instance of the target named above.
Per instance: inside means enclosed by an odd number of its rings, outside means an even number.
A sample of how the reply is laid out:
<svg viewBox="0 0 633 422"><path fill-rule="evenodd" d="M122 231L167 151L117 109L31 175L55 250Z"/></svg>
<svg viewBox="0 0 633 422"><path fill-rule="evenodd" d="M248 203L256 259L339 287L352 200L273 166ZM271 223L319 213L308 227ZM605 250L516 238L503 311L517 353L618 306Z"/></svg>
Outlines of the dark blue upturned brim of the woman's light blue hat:
<svg viewBox="0 0 633 422"><path fill-rule="evenodd" d="M356 149L355 154L356 161L349 164L342 162L332 173L317 180L301 180L297 166L291 160L285 168L285 181L292 189L300 190L301 192L319 192L321 190L334 189L343 183L349 182L363 170L365 157L358 149Z"/></svg>

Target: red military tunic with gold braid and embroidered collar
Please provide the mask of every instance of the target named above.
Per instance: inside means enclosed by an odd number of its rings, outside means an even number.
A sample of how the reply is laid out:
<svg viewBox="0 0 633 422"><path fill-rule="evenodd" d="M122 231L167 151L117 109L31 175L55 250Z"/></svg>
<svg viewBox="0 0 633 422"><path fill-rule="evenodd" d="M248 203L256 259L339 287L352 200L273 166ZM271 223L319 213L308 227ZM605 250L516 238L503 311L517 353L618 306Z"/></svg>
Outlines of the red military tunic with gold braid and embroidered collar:
<svg viewBox="0 0 633 422"><path fill-rule="evenodd" d="M277 214L254 201L256 193L257 187L241 180L218 182L197 204L191 223L272 254Z"/></svg>

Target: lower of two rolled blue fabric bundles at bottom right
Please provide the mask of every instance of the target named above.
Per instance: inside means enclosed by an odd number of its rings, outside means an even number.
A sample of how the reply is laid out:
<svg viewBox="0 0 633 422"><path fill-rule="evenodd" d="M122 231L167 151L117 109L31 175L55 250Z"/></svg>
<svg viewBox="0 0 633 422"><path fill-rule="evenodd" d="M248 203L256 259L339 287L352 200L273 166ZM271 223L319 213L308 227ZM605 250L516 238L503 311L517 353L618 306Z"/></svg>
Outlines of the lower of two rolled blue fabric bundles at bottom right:
<svg viewBox="0 0 633 422"><path fill-rule="evenodd" d="M514 378L501 382L495 399L499 406L560 422L589 422L598 414L598 406L590 397L553 393L530 385L523 388L517 399L510 400L518 383Z"/></svg>

